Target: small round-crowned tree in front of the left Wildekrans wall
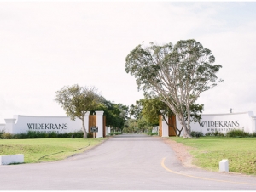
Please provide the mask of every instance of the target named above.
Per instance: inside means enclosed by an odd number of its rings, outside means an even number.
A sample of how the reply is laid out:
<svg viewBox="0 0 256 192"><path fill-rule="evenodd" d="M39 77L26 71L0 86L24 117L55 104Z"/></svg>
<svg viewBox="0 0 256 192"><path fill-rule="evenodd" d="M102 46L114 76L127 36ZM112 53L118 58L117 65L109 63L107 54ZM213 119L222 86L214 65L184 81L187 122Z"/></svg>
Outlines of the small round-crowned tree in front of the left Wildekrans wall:
<svg viewBox="0 0 256 192"><path fill-rule="evenodd" d="M55 101L61 104L71 120L78 117L82 120L82 130L84 138L87 138L87 132L84 126L84 116L87 111L94 110L101 103L101 96L97 93L96 88L65 86L56 92Z"/></svg>

